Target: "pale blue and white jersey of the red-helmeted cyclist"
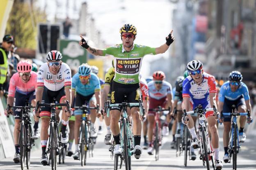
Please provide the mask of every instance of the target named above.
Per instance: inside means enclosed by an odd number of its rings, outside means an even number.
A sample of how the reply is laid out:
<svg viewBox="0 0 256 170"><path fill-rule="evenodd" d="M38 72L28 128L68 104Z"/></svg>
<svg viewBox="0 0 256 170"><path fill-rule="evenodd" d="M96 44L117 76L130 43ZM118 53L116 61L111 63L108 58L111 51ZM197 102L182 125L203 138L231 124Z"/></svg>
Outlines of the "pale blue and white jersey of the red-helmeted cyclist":
<svg viewBox="0 0 256 170"><path fill-rule="evenodd" d="M149 82L148 86L149 86L149 97L156 100L160 100L166 97L167 94L172 93L171 84L165 81L162 82L162 88L160 90L157 90L155 88L154 81Z"/></svg>

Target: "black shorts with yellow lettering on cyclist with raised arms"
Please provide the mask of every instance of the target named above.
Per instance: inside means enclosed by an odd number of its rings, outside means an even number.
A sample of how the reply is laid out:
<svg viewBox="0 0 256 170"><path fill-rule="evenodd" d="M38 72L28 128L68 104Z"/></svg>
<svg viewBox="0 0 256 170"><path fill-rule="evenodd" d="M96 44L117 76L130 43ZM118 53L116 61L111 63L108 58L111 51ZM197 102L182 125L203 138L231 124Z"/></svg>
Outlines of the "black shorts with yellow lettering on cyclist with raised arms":
<svg viewBox="0 0 256 170"><path fill-rule="evenodd" d="M138 84L121 84L113 81L110 104L117 104L117 103L124 102L124 95L127 96L126 100L128 103L139 103L139 100L141 100L141 91L140 91L139 83ZM136 107L139 107L139 106L136 106ZM121 108L111 107L110 110L121 111Z"/></svg>

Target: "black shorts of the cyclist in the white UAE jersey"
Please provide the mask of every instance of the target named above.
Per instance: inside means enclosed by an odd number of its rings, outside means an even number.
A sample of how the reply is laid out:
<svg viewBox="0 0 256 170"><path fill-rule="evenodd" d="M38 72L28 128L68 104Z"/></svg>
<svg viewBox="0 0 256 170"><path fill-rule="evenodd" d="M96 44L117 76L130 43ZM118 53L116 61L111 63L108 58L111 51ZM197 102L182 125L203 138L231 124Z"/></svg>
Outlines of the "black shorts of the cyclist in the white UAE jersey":
<svg viewBox="0 0 256 170"><path fill-rule="evenodd" d="M55 98L57 103L60 103L63 99L66 98L64 87L58 91L51 91L46 86L43 87L43 97L41 103L53 103L53 98ZM50 107L41 107L40 117L50 117Z"/></svg>

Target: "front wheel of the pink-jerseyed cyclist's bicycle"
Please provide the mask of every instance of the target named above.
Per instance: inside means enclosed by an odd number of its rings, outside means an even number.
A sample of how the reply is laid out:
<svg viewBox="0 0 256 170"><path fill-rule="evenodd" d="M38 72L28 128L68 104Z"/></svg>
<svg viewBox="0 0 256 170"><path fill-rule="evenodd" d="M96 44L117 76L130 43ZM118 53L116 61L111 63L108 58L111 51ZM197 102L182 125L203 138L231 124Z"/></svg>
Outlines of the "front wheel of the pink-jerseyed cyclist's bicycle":
<svg viewBox="0 0 256 170"><path fill-rule="evenodd" d="M21 121L21 127L20 127L20 135L19 135L19 145L20 145L20 163L21 163L21 170L25 169L25 157L26 157L26 148L25 148L25 126L24 121Z"/></svg>

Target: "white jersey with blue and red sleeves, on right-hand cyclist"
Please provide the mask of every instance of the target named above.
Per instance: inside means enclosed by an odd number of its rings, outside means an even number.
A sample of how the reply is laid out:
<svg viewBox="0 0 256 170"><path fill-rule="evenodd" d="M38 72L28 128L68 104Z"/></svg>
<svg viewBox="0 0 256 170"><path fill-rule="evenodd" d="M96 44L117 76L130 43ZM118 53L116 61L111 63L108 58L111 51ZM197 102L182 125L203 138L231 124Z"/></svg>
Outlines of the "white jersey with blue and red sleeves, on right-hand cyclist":
<svg viewBox="0 0 256 170"><path fill-rule="evenodd" d="M183 97L191 97L192 99L203 99L208 97L209 93L216 93L216 82L212 75L203 73L203 82L196 84L191 76L183 81Z"/></svg>

